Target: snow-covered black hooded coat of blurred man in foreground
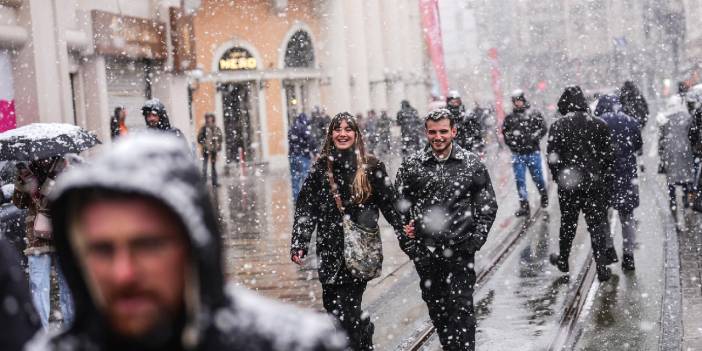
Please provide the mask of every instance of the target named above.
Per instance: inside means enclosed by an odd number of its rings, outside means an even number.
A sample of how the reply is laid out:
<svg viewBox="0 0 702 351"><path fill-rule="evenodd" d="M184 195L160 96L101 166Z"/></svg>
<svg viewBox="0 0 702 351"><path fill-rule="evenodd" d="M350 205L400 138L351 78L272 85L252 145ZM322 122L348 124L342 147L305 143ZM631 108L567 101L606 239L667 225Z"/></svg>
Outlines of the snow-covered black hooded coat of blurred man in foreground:
<svg viewBox="0 0 702 351"><path fill-rule="evenodd" d="M330 318L225 286L221 233L198 166L181 140L144 133L117 143L92 165L63 174L52 196L56 252L75 300L75 321L57 335L39 334L29 350L135 349L120 345L93 301L70 243L74 195L107 191L145 196L177 216L190 245L197 281L186 289L195 303L186 308L180 334L152 349L169 350L342 350L345 338ZM75 200L74 200L75 201ZM188 294L186 293L186 296Z"/></svg>

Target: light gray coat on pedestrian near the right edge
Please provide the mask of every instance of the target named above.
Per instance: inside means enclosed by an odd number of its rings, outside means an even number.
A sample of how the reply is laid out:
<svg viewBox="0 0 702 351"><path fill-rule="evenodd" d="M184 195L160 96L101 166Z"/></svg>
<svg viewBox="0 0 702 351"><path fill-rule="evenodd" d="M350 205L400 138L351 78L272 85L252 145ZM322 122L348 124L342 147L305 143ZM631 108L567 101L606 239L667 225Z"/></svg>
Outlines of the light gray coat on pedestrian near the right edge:
<svg viewBox="0 0 702 351"><path fill-rule="evenodd" d="M687 139L692 118L681 105L679 109L670 109L659 119L658 155L666 172L668 183L691 183L694 156Z"/></svg>

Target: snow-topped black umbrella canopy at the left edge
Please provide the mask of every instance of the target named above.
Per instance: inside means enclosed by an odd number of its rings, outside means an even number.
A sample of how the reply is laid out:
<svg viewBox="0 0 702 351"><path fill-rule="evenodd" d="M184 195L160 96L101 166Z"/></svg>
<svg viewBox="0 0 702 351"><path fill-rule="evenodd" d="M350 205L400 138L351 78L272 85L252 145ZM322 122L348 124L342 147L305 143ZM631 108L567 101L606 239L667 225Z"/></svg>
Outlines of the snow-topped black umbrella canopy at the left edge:
<svg viewBox="0 0 702 351"><path fill-rule="evenodd" d="M79 153L100 144L92 132L66 123L32 123L0 133L0 160L33 161Z"/></svg>

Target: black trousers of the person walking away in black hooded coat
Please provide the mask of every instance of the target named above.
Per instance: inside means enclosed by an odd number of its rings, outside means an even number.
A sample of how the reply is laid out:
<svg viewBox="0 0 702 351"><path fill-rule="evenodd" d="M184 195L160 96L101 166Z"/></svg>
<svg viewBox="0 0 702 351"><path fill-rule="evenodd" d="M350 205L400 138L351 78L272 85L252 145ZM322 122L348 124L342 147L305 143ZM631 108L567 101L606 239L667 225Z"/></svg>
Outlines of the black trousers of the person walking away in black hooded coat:
<svg viewBox="0 0 702 351"><path fill-rule="evenodd" d="M597 264L603 262L604 256L602 254L607 246L606 240L609 235L607 195L601 191L558 188L558 204L561 207L561 228L558 243L561 258L567 260L570 257L570 249L578 229L578 217L582 211L585 214L585 222L590 232L595 262Z"/></svg>

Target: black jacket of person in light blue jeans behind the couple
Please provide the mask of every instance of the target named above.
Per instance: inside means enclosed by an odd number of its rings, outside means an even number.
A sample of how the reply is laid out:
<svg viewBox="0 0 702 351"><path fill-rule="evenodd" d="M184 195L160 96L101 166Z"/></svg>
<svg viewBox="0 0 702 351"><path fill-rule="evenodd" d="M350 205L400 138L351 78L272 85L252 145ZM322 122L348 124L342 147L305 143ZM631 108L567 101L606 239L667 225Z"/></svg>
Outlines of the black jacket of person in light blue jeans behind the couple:
<svg viewBox="0 0 702 351"><path fill-rule="evenodd" d="M541 112L529 109L515 109L505 117L502 125L505 144L513 153L520 155L539 151L539 143L546 131L546 122Z"/></svg>

